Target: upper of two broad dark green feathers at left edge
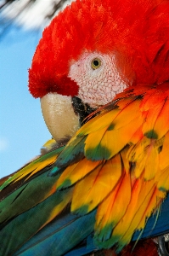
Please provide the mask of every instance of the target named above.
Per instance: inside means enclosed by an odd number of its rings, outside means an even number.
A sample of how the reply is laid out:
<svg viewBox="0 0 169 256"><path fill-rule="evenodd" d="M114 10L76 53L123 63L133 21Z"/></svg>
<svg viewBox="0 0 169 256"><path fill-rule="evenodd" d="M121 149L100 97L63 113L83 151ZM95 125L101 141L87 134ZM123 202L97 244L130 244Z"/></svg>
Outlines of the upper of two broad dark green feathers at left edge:
<svg viewBox="0 0 169 256"><path fill-rule="evenodd" d="M44 172L35 177L0 202L0 223L14 218L45 200L58 179L58 176L47 177L47 175L48 172Z"/></svg>

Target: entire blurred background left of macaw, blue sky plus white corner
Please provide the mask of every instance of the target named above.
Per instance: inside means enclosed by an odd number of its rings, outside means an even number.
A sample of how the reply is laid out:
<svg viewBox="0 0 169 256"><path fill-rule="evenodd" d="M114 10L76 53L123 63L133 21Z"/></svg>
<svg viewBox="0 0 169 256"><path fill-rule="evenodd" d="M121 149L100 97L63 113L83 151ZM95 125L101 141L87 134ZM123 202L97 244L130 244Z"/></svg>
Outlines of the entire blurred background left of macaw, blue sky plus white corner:
<svg viewBox="0 0 169 256"><path fill-rule="evenodd" d="M51 138L39 99L28 91L28 68L42 30L70 2L0 0L0 177L25 165Z"/></svg>

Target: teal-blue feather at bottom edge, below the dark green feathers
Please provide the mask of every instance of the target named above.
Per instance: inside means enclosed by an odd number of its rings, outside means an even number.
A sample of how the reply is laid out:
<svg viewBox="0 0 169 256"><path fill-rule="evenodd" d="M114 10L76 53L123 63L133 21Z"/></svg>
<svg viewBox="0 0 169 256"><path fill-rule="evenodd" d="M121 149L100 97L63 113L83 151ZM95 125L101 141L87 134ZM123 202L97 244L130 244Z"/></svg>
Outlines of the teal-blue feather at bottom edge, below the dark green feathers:
<svg viewBox="0 0 169 256"><path fill-rule="evenodd" d="M14 256L63 255L72 247L76 247L87 236L87 247L73 250L74 253L70 251L67 255L77 255L75 252L82 253L83 251L84 253L92 252L93 240L89 235L93 232L95 213L93 211L82 217L68 213L62 218L56 218L33 236L30 241L27 241L19 251L14 253Z"/></svg>

